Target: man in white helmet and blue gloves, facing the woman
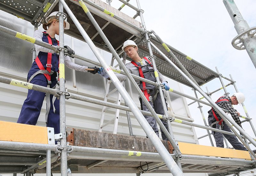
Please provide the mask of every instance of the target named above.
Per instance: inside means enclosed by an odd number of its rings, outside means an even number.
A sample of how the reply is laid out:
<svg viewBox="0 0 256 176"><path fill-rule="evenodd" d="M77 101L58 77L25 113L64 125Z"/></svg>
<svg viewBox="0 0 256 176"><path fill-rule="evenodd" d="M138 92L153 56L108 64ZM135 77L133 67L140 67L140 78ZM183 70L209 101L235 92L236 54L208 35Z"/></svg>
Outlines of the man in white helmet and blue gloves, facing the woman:
<svg viewBox="0 0 256 176"><path fill-rule="evenodd" d="M151 62L148 60L148 57L141 58L138 54L138 46L135 44L134 41L132 40L126 40L124 42L124 45L122 47L122 50L126 53L128 57L132 59L132 62L127 63L125 67L128 69L128 71L134 75L143 77L145 79L148 79L150 81L156 82L156 77L154 73L153 66ZM103 68L100 68L99 74L105 78L108 78L108 74L105 72ZM124 80L126 79L127 76L117 74L116 75L119 80ZM167 81L164 79L164 76L158 72L159 79L161 83L164 85L165 90L169 90L170 87L167 83ZM164 115L164 109L161 101L161 97L159 94L158 89L156 88L155 85L148 84L139 80L136 80L136 83L139 85L141 91L143 92L144 96L147 98L149 101L150 105L154 108L157 114ZM149 111L145 103L140 99L140 107L141 110L144 111ZM166 100L165 100L166 103ZM167 106L167 103L166 103ZM156 124L156 119L152 116L144 116L152 129L155 131L155 133L159 137L159 132L158 132L158 127ZM163 121L161 119L162 123L168 129L167 127L167 122ZM168 140L167 137L165 136L164 132L161 130L161 135L163 140Z"/></svg>

